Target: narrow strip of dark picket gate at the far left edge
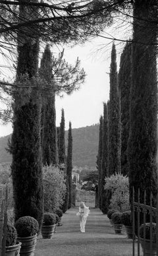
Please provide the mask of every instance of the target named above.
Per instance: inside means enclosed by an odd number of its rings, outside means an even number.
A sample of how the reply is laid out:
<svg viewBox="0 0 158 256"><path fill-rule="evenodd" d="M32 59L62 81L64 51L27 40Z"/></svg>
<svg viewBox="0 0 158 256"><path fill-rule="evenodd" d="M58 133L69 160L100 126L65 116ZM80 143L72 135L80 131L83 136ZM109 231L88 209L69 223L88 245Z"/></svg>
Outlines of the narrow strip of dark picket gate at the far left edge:
<svg viewBox="0 0 158 256"><path fill-rule="evenodd" d="M7 186L0 187L0 255L5 256L5 243L7 234Z"/></svg>

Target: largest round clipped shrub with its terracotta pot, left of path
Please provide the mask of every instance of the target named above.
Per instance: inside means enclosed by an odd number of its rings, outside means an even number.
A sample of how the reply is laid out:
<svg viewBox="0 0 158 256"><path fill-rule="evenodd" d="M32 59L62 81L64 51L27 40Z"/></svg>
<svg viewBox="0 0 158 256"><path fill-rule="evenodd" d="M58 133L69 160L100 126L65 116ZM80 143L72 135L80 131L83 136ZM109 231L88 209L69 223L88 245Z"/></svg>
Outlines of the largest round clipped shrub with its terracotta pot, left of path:
<svg viewBox="0 0 158 256"><path fill-rule="evenodd" d="M20 256L34 256L36 248L38 221L31 216L18 218L14 224L18 233L17 241L22 243Z"/></svg>

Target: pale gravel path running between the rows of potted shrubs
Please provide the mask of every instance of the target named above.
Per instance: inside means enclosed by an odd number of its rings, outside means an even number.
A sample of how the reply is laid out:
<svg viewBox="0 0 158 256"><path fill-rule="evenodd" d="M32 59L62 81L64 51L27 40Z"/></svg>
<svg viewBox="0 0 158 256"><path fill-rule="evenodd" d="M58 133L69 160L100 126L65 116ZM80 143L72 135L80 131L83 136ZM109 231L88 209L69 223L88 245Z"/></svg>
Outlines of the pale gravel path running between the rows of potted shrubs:
<svg viewBox="0 0 158 256"><path fill-rule="evenodd" d="M90 209L86 233L80 232L78 208L63 215L63 226L51 240L38 237L35 256L132 256L132 240L115 234L109 219L98 209ZM142 255L142 253L141 253Z"/></svg>

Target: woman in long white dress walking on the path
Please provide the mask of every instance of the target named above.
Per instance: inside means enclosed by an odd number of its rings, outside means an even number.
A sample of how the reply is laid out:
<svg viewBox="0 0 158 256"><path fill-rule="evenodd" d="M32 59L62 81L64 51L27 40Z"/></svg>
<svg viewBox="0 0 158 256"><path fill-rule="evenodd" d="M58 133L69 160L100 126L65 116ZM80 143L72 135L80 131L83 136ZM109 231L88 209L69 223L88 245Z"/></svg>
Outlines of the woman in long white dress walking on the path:
<svg viewBox="0 0 158 256"><path fill-rule="evenodd" d="M86 207L84 202L80 202L79 211L76 215L80 217L80 232L82 233L85 232L86 220L89 214L89 207Z"/></svg>

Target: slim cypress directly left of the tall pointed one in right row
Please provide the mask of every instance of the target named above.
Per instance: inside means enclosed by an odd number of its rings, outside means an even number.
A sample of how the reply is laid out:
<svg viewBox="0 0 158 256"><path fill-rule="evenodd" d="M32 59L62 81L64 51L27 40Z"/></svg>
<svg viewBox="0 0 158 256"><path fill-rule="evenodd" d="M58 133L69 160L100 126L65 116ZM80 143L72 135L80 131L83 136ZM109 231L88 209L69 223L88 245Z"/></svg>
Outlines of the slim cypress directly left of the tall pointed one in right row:
<svg viewBox="0 0 158 256"><path fill-rule="evenodd" d="M101 158L101 210L107 213L107 191L104 189L105 177L107 176L108 168L108 111L107 104L103 104L103 142L102 142L102 158Z"/></svg>

